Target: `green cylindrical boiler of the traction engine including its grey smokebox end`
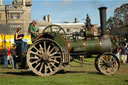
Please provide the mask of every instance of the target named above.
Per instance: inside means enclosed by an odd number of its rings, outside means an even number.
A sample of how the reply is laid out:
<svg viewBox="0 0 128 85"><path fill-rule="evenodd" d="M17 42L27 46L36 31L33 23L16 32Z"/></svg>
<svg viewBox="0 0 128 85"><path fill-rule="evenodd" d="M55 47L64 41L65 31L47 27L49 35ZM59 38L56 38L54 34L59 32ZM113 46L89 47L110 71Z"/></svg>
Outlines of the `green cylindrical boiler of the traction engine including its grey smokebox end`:
<svg viewBox="0 0 128 85"><path fill-rule="evenodd" d="M109 38L95 40L80 40L70 43L71 52L84 52L85 54L98 54L111 52L112 44Z"/></svg>

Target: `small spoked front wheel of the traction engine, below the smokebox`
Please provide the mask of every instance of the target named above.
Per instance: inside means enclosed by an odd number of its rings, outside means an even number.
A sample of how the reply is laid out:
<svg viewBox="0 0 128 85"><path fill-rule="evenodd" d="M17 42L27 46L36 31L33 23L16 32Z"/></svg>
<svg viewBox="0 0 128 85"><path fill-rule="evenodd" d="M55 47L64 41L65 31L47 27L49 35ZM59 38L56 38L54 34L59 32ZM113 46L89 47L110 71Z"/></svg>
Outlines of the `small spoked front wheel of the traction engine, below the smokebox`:
<svg viewBox="0 0 128 85"><path fill-rule="evenodd" d="M118 71L120 63L115 55L106 53L96 58L95 67L102 74L113 75Z"/></svg>

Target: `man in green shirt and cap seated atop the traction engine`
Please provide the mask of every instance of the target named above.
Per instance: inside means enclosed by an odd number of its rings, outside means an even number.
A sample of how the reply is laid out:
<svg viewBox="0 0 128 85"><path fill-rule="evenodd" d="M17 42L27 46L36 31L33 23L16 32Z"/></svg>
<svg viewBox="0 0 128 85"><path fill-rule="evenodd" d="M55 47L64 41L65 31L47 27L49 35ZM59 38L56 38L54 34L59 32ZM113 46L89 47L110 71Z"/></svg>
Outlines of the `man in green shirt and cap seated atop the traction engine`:
<svg viewBox="0 0 128 85"><path fill-rule="evenodd" d="M36 21L33 20L32 23L30 24L29 26L29 30L30 30L30 33L31 33L31 37L32 37L32 42L34 41L34 39L38 36L38 30L36 29L35 27L36 25Z"/></svg>

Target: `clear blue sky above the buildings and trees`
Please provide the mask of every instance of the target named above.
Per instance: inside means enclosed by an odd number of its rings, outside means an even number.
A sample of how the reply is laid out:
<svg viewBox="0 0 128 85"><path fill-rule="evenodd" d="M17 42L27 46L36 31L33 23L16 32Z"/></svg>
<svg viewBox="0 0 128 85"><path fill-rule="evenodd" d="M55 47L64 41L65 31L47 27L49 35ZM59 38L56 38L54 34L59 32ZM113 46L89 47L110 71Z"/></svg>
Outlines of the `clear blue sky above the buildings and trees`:
<svg viewBox="0 0 128 85"><path fill-rule="evenodd" d="M12 4L13 0L3 0L3 4ZM32 0L31 20L43 20L43 16L50 14L53 23L74 22L77 18L85 23L86 15L92 24L100 26L99 7L107 7L107 18L114 16L114 9L128 0Z"/></svg>

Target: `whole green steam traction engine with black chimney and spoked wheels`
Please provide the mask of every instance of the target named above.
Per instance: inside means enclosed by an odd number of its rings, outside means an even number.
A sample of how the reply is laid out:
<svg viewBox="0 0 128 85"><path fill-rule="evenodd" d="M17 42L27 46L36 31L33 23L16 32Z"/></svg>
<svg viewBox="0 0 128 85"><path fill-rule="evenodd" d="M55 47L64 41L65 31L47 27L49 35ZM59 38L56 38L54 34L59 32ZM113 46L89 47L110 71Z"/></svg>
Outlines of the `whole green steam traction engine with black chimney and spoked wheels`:
<svg viewBox="0 0 128 85"><path fill-rule="evenodd" d="M27 52L29 68L37 75L49 76L55 74L62 67L71 62L76 55L97 54L96 69L105 74L115 74L119 69L119 60L111 53L111 40L106 35L106 8L101 7L101 36L94 39L85 39L94 36L93 33L79 33L84 39L66 40L65 31L58 25L50 25L43 30ZM85 35L86 34L86 35Z"/></svg>

